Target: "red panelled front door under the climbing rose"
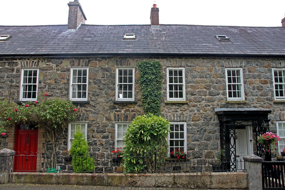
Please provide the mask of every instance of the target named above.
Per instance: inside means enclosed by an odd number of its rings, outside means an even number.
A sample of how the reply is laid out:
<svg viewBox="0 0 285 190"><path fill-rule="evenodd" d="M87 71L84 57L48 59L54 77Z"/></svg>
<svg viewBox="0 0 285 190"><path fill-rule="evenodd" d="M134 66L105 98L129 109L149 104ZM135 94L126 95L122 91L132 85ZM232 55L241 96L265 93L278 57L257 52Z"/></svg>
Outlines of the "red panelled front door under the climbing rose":
<svg viewBox="0 0 285 190"><path fill-rule="evenodd" d="M15 172L36 172L38 130L18 129L15 138Z"/></svg>

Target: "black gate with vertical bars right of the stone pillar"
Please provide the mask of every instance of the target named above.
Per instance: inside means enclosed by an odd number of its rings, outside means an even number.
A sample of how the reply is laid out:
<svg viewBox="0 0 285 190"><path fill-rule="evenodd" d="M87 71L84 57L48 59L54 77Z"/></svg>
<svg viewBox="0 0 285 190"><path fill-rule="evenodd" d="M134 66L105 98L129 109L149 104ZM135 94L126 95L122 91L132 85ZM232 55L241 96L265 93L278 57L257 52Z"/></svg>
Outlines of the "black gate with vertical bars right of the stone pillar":
<svg viewBox="0 0 285 190"><path fill-rule="evenodd" d="M262 162L262 189L285 189L285 162Z"/></svg>

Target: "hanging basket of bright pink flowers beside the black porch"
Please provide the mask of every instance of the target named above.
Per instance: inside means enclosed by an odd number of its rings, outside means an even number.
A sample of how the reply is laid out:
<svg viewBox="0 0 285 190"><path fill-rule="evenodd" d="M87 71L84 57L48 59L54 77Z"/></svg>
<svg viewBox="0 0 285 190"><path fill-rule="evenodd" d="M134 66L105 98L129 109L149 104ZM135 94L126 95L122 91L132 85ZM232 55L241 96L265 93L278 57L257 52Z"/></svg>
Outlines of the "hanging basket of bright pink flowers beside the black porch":
<svg viewBox="0 0 285 190"><path fill-rule="evenodd" d="M280 140L280 137L278 137L275 133L271 132L261 134L257 138L257 142L262 144L264 146L264 151L267 152L269 152L270 149L275 152L275 145L277 145L278 140Z"/></svg>

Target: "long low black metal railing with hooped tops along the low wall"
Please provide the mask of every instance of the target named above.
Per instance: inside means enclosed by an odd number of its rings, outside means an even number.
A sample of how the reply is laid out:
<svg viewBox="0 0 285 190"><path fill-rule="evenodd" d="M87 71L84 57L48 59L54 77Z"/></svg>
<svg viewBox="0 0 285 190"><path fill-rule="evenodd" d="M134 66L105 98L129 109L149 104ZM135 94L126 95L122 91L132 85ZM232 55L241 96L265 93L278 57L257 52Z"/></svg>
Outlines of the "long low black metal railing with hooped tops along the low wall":
<svg viewBox="0 0 285 190"><path fill-rule="evenodd" d="M156 156L134 156L132 159L148 162L151 167L144 167L142 173L164 172L237 172L244 170L244 161L224 161L211 159L166 159L157 161ZM111 153L95 153L93 155L54 155L53 153L16 153L13 172L127 172L122 167L123 157ZM236 166L232 169L231 166Z"/></svg>

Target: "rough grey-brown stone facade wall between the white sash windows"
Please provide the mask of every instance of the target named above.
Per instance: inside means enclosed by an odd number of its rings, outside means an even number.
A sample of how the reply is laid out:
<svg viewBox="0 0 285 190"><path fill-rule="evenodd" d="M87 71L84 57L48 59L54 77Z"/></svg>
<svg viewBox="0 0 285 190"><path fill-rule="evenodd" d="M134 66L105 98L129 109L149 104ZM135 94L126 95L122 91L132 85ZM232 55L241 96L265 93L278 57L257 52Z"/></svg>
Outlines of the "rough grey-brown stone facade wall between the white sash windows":
<svg viewBox="0 0 285 190"><path fill-rule="evenodd" d="M132 121L143 114L138 85L137 63L146 59L161 62L163 69L162 116L169 121L187 123L188 158L214 158L219 150L219 121L214 108L271 109L270 130L276 132L276 121L285 121L284 102L274 102L271 68L285 68L279 58L23 58L0 59L1 98L18 100L21 67L38 67L39 93L68 99L71 66L89 66L90 103L76 103L78 120L88 121L88 144L91 152L114 150L115 122ZM135 100L137 103L115 103L116 66L135 66ZM166 103L166 68L185 67L187 103ZM227 101L225 68L243 68L246 101ZM11 83L12 81L12 83ZM7 85L8 84L8 85ZM10 85L11 84L11 85ZM254 140L255 141L255 140ZM57 150L67 147L67 129L61 135ZM47 142L46 149L50 149Z"/></svg>

